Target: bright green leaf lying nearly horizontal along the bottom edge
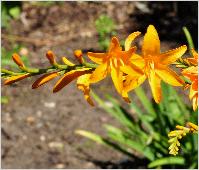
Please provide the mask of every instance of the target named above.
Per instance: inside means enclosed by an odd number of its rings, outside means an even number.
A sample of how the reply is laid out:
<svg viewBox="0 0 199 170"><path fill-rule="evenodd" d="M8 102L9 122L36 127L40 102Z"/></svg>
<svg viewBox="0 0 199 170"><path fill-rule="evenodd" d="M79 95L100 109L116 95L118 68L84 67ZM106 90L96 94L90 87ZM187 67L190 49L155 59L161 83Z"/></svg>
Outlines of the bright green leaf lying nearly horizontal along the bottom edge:
<svg viewBox="0 0 199 170"><path fill-rule="evenodd" d="M154 168L162 165L183 165L185 163L182 157L166 157L156 159L155 161L148 164L148 168Z"/></svg>

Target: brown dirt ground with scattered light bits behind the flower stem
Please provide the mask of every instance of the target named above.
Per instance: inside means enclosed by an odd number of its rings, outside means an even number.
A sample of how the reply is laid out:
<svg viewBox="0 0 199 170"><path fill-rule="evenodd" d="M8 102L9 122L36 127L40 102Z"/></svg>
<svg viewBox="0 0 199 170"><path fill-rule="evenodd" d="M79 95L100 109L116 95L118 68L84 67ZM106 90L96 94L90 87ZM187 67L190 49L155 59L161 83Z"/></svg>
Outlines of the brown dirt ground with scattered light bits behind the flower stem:
<svg viewBox="0 0 199 170"><path fill-rule="evenodd" d="M34 66L48 65L44 56L49 49L74 61L73 50L98 48L94 21L100 14L113 17L119 38L123 39L129 27L137 30L129 17L135 10L133 2L65 2L50 7L25 3L25 19L12 22L12 34L39 40L22 43ZM2 44L10 48L8 40L3 39ZM163 42L163 50L175 45ZM35 79L2 86L2 95L9 97L9 103L2 105L2 168L107 168L124 159L122 154L74 134L76 129L85 129L103 135L103 123L117 125L101 108L92 108L85 102L75 82L52 94L55 81L32 90L31 82ZM110 80L93 89L100 96L112 93L119 98Z"/></svg>

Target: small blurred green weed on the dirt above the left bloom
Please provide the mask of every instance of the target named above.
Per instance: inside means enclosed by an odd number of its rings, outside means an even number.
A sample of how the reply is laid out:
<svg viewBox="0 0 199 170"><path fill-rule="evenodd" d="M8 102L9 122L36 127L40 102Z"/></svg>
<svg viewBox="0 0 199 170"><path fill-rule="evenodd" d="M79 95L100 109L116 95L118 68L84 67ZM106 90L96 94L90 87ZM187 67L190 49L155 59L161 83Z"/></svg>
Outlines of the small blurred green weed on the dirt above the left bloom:
<svg viewBox="0 0 199 170"><path fill-rule="evenodd" d="M107 15L101 15L95 21L95 26L99 35L99 47L101 50L106 50L110 43L110 37L116 35L115 23Z"/></svg>

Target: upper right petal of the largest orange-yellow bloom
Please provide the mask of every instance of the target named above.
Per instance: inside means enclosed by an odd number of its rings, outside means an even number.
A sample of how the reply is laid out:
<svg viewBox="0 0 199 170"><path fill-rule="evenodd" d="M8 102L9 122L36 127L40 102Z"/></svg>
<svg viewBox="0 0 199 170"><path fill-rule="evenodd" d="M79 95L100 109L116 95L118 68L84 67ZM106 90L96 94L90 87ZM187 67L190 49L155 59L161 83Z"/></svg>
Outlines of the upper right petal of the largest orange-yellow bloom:
<svg viewBox="0 0 199 170"><path fill-rule="evenodd" d="M163 65L169 65L179 59L187 50L187 46L183 45L179 48L169 50L159 55L160 63Z"/></svg>

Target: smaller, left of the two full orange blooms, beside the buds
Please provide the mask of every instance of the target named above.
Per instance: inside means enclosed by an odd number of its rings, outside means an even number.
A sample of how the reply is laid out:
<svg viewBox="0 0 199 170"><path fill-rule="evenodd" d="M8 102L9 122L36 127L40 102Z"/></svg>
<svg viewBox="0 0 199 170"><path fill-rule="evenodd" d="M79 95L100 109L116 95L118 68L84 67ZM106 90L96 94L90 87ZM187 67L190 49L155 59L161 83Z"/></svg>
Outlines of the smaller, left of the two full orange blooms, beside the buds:
<svg viewBox="0 0 199 170"><path fill-rule="evenodd" d="M88 52L88 57L99 66L90 76L90 83L96 83L104 79L109 73L113 80L114 86L119 94L128 101L127 96L124 96L123 91L123 72L121 67L125 67L135 52L136 47L129 48L127 51L122 51L119 41L116 37L113 37L110 43L108 52L106 53L92 53ZM140 70L137 67L131 67L131 69L140 74Z"/></svg>

